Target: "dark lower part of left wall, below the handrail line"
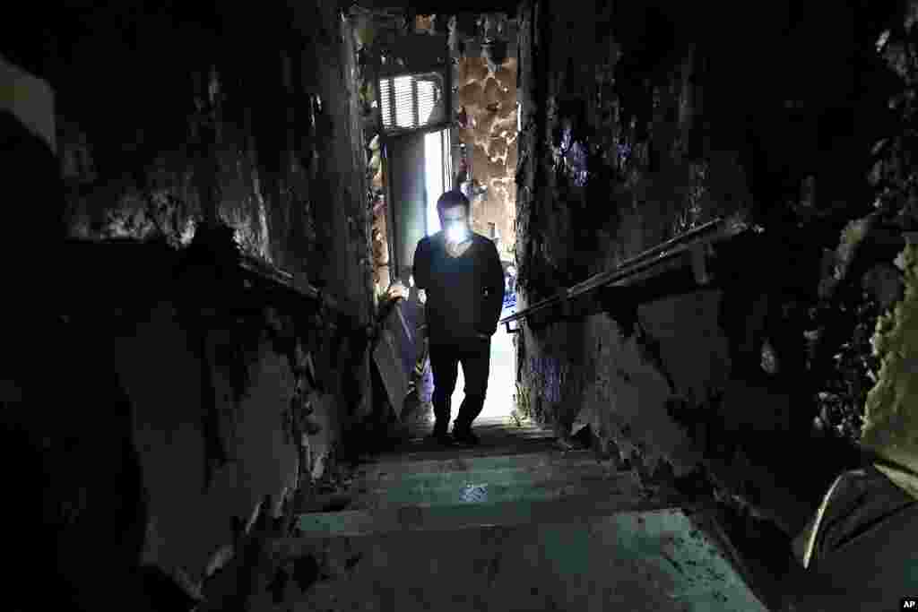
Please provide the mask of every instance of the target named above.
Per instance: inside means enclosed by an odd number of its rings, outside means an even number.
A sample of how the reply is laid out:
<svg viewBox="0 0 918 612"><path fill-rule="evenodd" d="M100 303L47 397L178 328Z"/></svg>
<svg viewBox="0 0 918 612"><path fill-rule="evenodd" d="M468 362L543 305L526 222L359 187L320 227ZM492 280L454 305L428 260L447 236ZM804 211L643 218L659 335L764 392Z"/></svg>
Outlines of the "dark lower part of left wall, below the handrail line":
<svg viewBox="0 0 918 612"><path fill-rule="evenodd" d="M263 588L246 582L263 570L246 552L256 517L284 537L336 469L353 413L343 393L354 380L352 337L363 327L196 245L182 256L154 244L69 249L74 269L118 261L116 272L144 281L122 295L125 285L68 274L71 295L84 294L60 305L58 327L68 360L83 365L44 392L66 417L23 421L46 440L58 571L85 583L78 600L95 606L107 577L81 567L95 541L108 562L160 576L133 588L157 606L170 592L216 605L206 609L244 602ZM37 401L31 377L20 382Z"/></svg>

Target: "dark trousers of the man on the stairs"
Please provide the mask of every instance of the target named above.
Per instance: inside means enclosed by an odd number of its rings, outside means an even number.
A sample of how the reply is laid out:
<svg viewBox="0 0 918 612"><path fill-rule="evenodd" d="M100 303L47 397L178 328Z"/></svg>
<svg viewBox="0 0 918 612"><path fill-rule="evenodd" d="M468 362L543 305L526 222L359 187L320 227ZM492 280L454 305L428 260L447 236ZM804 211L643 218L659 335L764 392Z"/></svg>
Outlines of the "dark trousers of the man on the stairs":
<svg viewBox="0 0 918 612"><path fill-rule="evenodd" d="M491 362L490 339L467 339L453 343L431 341L431 372L433 373L434 433L446 433L452 406L450 399L456 386L462 363L465 376L465 399L459 406L454 431L467 431L485 406L487 376Z"/></svg>

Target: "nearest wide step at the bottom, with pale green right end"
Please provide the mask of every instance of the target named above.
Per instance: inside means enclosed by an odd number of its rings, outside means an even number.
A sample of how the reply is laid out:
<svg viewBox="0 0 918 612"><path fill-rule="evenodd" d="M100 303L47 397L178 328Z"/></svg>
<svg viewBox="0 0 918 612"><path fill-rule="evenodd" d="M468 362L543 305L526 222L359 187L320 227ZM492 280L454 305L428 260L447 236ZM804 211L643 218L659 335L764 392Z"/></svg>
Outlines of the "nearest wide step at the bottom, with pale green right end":
<svg viewBox="0 0 918 612"><path fill-rule="evenodd" d="M767 612L700 520L707 513L594 503L503 506L490 511L498 523L481 524L482 513L465 517L475 529L442 530L456 517L422 508L386 532L349 533L364 537L280 540L276 554L311 554L324 577L306 591L289 581L284 606L252 609Z"/></svg>

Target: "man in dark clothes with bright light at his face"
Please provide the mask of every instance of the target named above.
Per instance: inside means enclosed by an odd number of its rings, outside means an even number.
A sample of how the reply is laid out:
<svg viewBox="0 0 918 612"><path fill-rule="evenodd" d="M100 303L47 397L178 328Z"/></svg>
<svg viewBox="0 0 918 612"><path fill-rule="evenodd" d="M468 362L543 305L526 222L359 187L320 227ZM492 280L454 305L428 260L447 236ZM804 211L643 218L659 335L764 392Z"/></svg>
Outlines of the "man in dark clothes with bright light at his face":
<svg viewBox="0 0 918 612"><path fill-rule="evenodd" d="M414 281L427 294L426 315L433 373L433 437L473 445L472 421L485 405L491 336L497 331L504 298L498 249L469 224L471 206L461 192L437 200L442 230L421 239L414 253ZM465 399L447 428L453 389L462 363Z"/></svg>

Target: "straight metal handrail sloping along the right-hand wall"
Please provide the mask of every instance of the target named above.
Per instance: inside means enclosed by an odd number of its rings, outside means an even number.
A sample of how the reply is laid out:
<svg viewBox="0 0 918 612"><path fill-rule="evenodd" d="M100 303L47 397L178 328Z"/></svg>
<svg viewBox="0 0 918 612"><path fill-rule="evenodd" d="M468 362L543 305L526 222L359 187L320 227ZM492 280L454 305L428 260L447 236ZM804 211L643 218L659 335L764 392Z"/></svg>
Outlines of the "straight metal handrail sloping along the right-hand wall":
<svg viewBox="0 0 918 612"><path fill-rule="evenodd" d="M630 276L642 273L664 261L686 253L691 247L731 238L748 228L748 223L742 217L718 217L700 225L698 228L689 229L683 234L661 242L651 249L644 250L631 259L622 261L614 270L594 274L586 281L568 287L557 295L546 297L532 306L523 308L518 313L503 317L498 321L498 325L505 324L509 331L509 324L513 321L530 317L539 311L562 304L578 295L584 295L599 289L599 287L620 283Z"/></svg>

